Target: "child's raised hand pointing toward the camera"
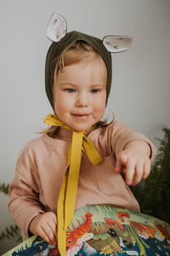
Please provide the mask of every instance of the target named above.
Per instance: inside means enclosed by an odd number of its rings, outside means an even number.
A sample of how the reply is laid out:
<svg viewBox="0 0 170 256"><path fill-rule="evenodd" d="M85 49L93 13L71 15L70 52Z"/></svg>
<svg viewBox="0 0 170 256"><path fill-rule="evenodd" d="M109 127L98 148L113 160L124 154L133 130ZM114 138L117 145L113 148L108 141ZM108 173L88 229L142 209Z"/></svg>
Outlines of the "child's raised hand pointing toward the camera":
<svg viewBox="0 0 170 256"><path fill-rule="evenodd" d="M115 172L122 172L127 185L137 185L150 174L150 146L142 140L127 143L116 160Z"/></svg>

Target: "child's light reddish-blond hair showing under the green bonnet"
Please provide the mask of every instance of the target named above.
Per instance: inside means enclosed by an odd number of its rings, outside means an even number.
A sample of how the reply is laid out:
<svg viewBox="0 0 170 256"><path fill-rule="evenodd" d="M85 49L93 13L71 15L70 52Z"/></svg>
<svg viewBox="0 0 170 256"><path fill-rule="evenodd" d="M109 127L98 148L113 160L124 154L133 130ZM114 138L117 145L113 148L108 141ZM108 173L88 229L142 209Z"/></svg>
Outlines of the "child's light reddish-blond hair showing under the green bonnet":
<svg viewBox="0 0 170 256"><path fill-rule="evenodd" d="M100 61L103 60L101 55L99 55L99 53L87 42L79 40L71 44L71 46L69 46L69 48L59 56L59 60L57 61L54 70L54 81L59 71L65 73L66 66L76 64L89 58L96 58L96 60L99 59ZM103 61L103 63L105 65L105 61ZM105 81L105 84L107 84L107 81ZM107 125L106 119L104 121L99 121L96 125L94 125L94 129L103 125ZM42 133L48 133L50 137L54 137L57 130L58 127L51 126L47 130L42 131Z"/></svg>

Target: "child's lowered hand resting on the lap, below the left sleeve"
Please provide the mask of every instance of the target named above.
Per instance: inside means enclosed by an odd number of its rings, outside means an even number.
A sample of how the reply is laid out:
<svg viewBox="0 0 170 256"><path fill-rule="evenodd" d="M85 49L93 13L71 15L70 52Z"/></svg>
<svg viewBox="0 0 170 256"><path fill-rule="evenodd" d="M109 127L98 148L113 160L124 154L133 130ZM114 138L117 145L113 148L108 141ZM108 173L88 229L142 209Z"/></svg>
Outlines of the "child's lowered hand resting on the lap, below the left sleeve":
<svg viewBox="0 0 170 256"><path fill-rule="evenodd" d="M29 230L32 234L41 236L49 244L57 241L57 217L54 212L45 212L32 219Z"/></svg>

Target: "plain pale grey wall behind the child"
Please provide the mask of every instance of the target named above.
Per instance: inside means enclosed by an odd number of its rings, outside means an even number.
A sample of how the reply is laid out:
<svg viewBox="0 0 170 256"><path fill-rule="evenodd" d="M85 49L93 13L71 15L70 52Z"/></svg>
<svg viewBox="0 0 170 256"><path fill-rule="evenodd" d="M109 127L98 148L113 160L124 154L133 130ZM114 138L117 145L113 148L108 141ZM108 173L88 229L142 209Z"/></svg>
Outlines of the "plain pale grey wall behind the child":
<svg viewBox="0 0 170 256"><path fill-rule="evenodd" d="M106 116L143 132L156 143L170 127L169 0L0 0L0 183L10 183L20 148L45 127L52 111L44 92L46 26L64 15L68 31L103 38L131 35L133 45L113 55L113 82ZM0 232L13 223L0 195ZM4 241L1 250L12 244ZM1 253L1 252L0 252Z"/></svg>

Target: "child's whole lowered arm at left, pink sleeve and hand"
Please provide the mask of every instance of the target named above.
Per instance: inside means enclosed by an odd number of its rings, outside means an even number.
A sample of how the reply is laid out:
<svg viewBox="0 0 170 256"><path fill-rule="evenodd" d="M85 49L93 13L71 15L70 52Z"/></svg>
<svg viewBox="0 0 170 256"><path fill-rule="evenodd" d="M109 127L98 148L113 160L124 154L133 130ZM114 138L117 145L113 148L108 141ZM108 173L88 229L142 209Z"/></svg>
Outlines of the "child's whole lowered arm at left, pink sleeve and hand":
<svg viewBox="0 0 170 256"><path fill-rule="evenodd" d="M37 235L48 243L54 243L57 236L57 217L46 212L39 198L41 180L34 151L26 144L21 150L15 167L15 174L9 186L8 210L26 236Z"/></svg>

